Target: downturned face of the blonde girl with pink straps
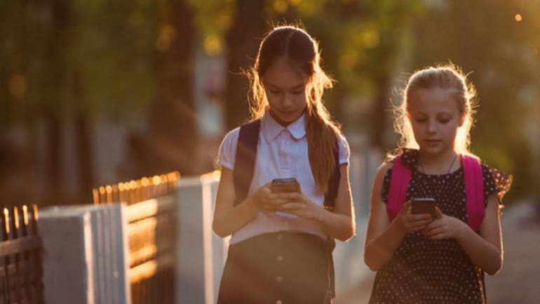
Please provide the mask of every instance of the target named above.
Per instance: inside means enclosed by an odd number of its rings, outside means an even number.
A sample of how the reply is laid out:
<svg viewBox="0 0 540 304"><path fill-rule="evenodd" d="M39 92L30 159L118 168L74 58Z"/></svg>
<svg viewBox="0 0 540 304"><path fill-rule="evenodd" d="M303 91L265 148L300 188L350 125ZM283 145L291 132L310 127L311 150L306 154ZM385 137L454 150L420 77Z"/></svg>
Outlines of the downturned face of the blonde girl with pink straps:
<svg viewBox="0 0 540 304"><path fill-rule="evenodd" d="M464 115L454 96L443 88L411 92L408 116L420 150L430 154L454 151L454 140Z"/></svg>

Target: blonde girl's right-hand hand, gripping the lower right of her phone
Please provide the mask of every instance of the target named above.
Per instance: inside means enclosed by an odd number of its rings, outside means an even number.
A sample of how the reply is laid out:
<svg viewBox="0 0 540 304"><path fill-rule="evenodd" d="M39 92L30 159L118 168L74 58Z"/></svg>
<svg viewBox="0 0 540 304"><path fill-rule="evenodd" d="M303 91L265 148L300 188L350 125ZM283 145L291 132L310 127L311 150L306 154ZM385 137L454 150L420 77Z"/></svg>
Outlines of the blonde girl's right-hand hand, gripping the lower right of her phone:
<svg viewBox="0 0 540 304"><path fill-rule="evenodd" d="M464 229L468 228L466 223L453 216L446 216L438 207L435 207L435 213L436 220L422 229L422 234L429 239L459 239Z"/></svg>

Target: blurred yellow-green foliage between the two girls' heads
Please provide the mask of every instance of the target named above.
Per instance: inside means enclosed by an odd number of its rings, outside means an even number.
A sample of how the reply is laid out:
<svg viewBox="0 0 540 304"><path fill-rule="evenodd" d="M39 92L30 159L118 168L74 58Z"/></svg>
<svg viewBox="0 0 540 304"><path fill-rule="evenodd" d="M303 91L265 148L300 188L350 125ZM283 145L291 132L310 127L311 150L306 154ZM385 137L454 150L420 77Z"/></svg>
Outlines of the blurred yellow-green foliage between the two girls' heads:
<svg viewBox="0 0 540 304"><path fill-rule="evenodd" d="M410 45L411 20L422 7L421 1L274 0L278 20L295 22L297 16L320 40L325 68L337 79L327 98L330 112L347 121L351 107L369 109L351 122L357 131L369 131L371 145L379 150L389 142L393 77ZM362 100L367 105L359 105ZM346 104L351 102L357 105Z"/></svg>

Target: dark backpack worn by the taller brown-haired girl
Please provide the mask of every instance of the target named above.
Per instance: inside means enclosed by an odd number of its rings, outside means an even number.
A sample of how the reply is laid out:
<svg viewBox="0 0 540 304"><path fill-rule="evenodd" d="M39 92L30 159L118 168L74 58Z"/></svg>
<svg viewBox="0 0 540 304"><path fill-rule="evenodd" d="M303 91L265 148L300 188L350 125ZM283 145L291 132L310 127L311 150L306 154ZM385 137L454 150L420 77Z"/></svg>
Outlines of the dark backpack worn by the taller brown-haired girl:
<svg viewBox="0 0 540 304"><path fill-rule="evenodd" d="M236 193L236 199L234 201L235 206L240 204L246 197L248 197L248 190L250 188L255 170L255 158L257 157L257 143L259 143L260 126L261 119L255 119L240 126L233 169L234 191ZM339 171L339 146L337 137L334 158L336 165L330 180L328 180L328 191L325 194L325 201L323 204L324 208L329 211L334 210L337 189L339 187L339 179L341 178L341 172ZM328 236L326 239L328 265L330 269L330 291L332 298L335 298L335 273L334 260L332 258L332 251L335 248L335 240L330 236Z"/></svg>

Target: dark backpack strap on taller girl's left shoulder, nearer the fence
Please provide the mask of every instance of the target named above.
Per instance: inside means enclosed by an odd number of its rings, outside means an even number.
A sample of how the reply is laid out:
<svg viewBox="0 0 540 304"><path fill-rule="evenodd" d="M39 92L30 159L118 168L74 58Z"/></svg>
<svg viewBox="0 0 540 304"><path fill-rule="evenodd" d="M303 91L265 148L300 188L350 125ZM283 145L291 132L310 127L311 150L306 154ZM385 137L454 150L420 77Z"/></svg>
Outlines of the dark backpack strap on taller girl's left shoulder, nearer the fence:
<svg viewBox="0 0 540 304"><path fill-rule="evenodd" d="M236 194L235 206L248 197L253 171L255 170L260 126L261 119L255 119L240 126L233 169L234 192Z"/></svg>

